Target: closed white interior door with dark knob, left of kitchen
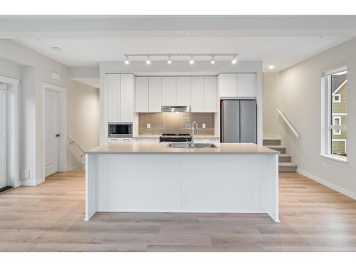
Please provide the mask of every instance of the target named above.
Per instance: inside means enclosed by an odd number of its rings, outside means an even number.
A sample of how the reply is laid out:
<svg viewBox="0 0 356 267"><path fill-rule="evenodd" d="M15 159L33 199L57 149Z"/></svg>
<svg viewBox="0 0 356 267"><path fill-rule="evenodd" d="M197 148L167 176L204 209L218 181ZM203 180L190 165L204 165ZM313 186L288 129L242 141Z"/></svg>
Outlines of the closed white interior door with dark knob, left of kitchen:
<svg viewBox="0 0 356 267"><path fill-rule="evenodd" d="M58 172L59 93L45 90L45 177Z"/></svg>

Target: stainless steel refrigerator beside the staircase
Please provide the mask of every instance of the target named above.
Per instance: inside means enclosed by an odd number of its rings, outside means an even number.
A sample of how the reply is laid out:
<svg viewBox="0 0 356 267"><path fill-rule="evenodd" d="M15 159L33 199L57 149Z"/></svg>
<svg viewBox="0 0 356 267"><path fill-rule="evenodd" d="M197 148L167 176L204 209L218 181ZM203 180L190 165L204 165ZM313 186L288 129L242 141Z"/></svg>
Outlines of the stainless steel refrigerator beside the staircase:
<svg viewBox="0 0 356 267"><path fill-rule="evenodd" d="M220 115L221 142L257 144L256 100L221 100Z"/></svg>

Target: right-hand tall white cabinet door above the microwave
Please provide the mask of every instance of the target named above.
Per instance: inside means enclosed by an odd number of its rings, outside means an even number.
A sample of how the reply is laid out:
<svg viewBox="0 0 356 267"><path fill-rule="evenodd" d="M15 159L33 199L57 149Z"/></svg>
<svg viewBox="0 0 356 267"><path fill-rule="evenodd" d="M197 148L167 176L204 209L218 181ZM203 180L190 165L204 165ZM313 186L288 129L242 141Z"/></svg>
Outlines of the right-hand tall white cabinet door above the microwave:
<svg viewBox="0 0 356 267"><path fill-rule="evenodd" d="M132 122L133 120L133 90L134 90L134 75L122 74L121 75L121 109L120 121Z"/></svg>

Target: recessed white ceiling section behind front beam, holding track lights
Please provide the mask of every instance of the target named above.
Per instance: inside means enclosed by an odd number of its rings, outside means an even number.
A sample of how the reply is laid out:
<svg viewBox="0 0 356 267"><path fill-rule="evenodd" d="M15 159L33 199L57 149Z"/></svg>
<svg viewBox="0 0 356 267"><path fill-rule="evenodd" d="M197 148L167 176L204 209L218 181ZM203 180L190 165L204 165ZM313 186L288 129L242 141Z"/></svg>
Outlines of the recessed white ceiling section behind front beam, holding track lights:
<svg viewBox="0 0 356 267"><path fill-rule="evenodd" d="M180 38L40 38L16 39L43 55L67 66L99 66L101 61L124 61L126 53L239 53L240 61L263 61L263 70L276 66L283 70L310 56L336 46L350 37L345 36L298 36L298 37L180 37ZM53 51L52 46L62 48ZM197 57L210 60L210 57ZM220 60L231 58L216 57ZM145 58L132 58L142 60ZM152 58L165 60L165 58ZM172 57L175 61L189 58Z"/></svg>

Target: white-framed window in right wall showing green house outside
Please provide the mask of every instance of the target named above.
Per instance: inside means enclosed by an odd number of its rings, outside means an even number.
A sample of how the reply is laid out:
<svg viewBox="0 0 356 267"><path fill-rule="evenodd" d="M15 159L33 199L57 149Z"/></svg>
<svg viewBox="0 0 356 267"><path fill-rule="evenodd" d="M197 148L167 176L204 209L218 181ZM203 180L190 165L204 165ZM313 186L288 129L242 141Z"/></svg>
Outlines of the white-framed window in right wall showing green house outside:
<svg viewBox="0 0 356 267"><path fill-rule="evenodd" d="M322 77L322 155L347 158L347 68L326 70Z"/></svg>

